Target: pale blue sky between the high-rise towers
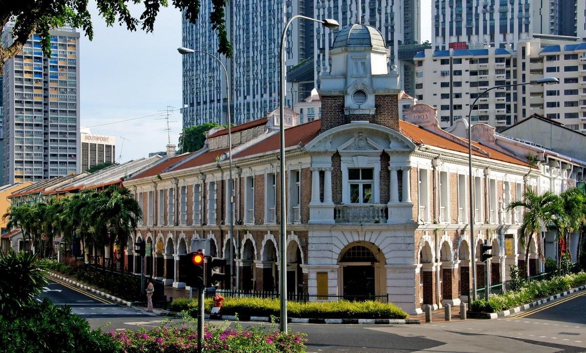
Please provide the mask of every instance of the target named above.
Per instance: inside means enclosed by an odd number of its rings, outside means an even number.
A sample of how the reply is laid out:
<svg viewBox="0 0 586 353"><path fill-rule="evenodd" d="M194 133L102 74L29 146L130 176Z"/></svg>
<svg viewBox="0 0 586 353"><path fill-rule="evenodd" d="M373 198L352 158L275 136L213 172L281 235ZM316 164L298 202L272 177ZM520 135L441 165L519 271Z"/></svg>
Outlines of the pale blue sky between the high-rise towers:
<svg viewBox="0 0 586 353"><path fill-rule="evenodd" d="M81 127L154 115L90 130L116 138L118 162L165 150L163 111L168 105L178 109L182 104L181 56L176 50L181 46L180 12L172 6L161 8L154 33L147 34L118 25L108 28L95 3L90 6L94 40L82 36L80 43ZM431 40L430 6L431 0L422 0L422 40ZM132 10L139 16L138 6ZM171 142L177 143L182 125L179 111L170 115L170 121Z"/></svg>

